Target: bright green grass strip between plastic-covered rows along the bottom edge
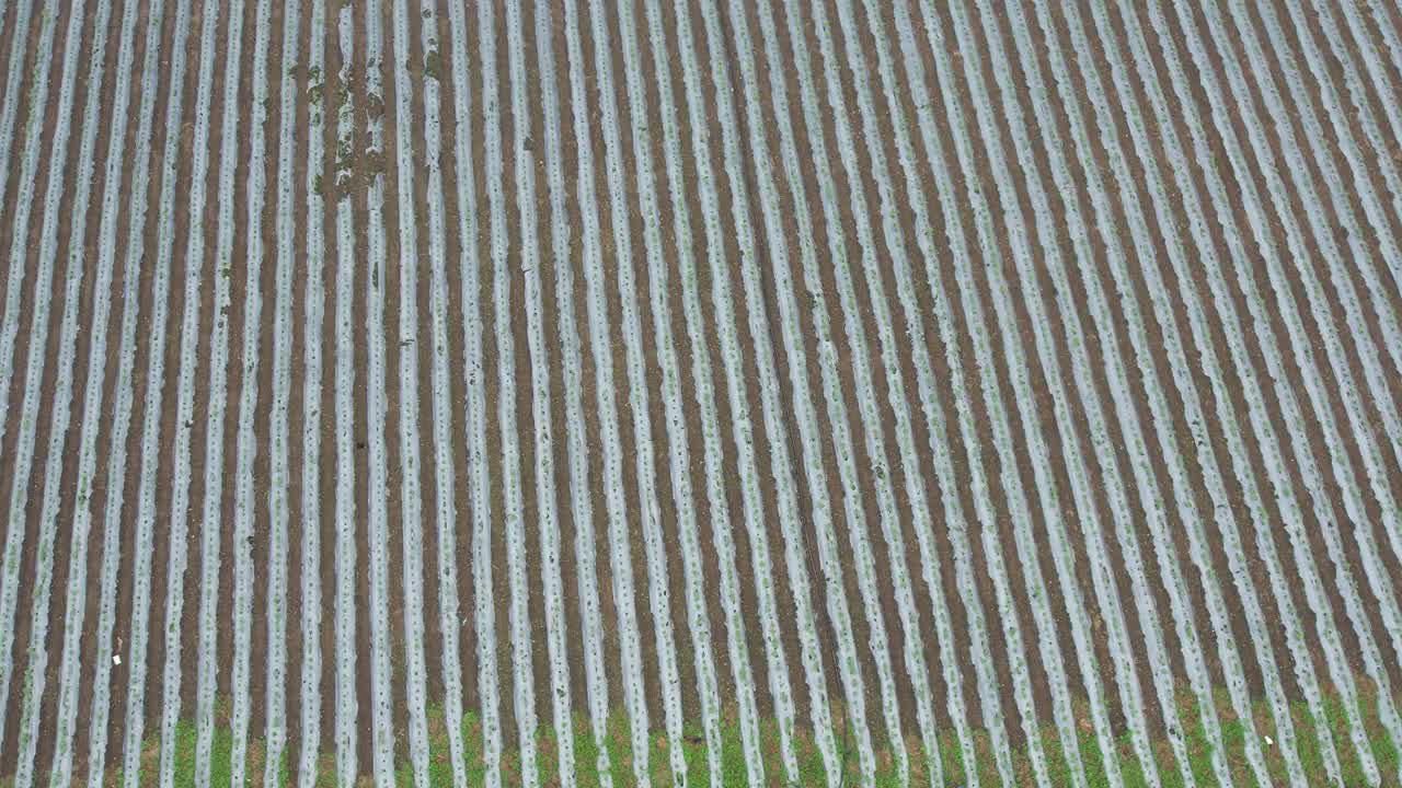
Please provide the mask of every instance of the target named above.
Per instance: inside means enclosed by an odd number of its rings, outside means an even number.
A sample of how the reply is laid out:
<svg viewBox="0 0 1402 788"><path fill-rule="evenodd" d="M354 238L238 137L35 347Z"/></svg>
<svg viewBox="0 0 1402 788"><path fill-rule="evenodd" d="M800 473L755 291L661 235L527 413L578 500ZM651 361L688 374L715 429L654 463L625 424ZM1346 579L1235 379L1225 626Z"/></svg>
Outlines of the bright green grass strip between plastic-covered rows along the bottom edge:
<svg viewBox="0 0 1402 788"><path fill-rule="evenodd" d="M1238 719L1231 709L1230 701L1221 695L1214 698L1218 721L1223 729L1221 757L1227 764L1234 785L1252 785L1252 771L1246 761L1246 738L1255 726L1263 735L1272 736L1274 746L1265 749L1266 767L1273 785L1286 784L1286 764L1280 752L1280 742L1276 739L1276 725L1269 707L1258 702L1252 711L1252 719ZM1402 768L1402 753L1398 743L1392 742L1382 729L1377 712L1377 697L1364 693L1360 698L1363 712L1363 728L1368 736L1368 746L1374 760L1382 773L1384 785L1402 788L1398 782L1398 771ZM1213 745L1206 733L1199 714L1199 707L1190 694L1183 694L1179 700L1179 715L1186 725L1185 749L1187 752L1187 768L1193 781L1200 787L1218 785L1216 768L1213 766ZM1333 740L1335 749L1343 767L1343 777L1347 785L1366 785L1363 766L1359 753L1349 738L1347 714L1338 697L1328 697L1323 704L1325 729ZM1325 785L1325 766L1319 742L1315 738L1315 721L1302 702L1293 704L1291 718L1295 728L1295 752L1312 785ZM216 729L212 750L212 784L217 787L230 785L233 771L233 733L227 726L227 700L220 701L216 709ZM475 712L467 712L457 724L463 739L463 768L467 784L477 788L485 785L488 763L484 750L482 724ZM450 746L450 721L444 718L442 708L428 709L429 729L429 763L428 785L432 788L451 787L454 777L454 756ZM575 784L580 788L596 788L600 784L599 770L607 768L613 784L620 788L637 785L635 753L632 752L632 731L627 715L617 712L607 721L603 740L599 740L589 721L576 716L572 728L557 733L551 726L543 726L536 736L536 773L541 785L559 785L559 738L569 736L575 752ZM515 739L515 731L502 731L505 742ZM1039 739L1047 760L1047 770L1054 785L1074 785L1071 766L1061 746L1060 736L1052 726L1039 731ZM784 781L784 764L780 754L780 728L774 719L760 722L760 757L764 767L764 784L775 788L824 787L829 784L827 767L813 740L812 732L798 728L792 732L795 757L798 760L798 774L794 782ZM841 728L837 729L838 759L843 768L843 785L859 785L861 774L858 759L851 752L851 743L844 739ZM401 743L402 745L402 743ZM1151 738L1151 750L1157 763L1150 764L1165 788L1183 788L1183 775L1173 760L1172 747L1162 735ZM196 731L191 721L181 721L175 726L174 736L174 770L175 785L195 785L195 749ZM681 774L673 773L672 747L680 746L684 768ZM1091 788L1109 785L1106 778L1108 764L1113 759L1124 777L1126 785L1131 788L1147 788L1145 764L1140 763L1130 746L1129 733L1120 733L1115 742L1103 742L1088 729L1077 731L1075 746L1085 767ZM900 785L899 759L894 747L904 747L911 768L913 785L928 785L930 768L924 742L911 736L904 743L885 743L876 747L876 778L878 787ZM998 784L998 768L993 754L988 735L976 731L973 735L973 752L966 752L959 746L959 739L952 731L942 731L935 738L939 770L944 784L956 787L966 785L969 770L977 770L984 785ZM402 746L401 746L402 750ZM262 784L266 750L261 739L251 739L248 745L245 775L250 784ZM407 753L398 753L404 761L397 771L400 785L414 785L414 770L407 763ZM1014 778L1019 782L1032 784L1033 768L1028 749L1025 746L1014 749ZM659 787L691 785L704 787L711 784L712 763L708 757L705 731L698 722L683 728L681 742L669 742L662 732L648 736L648 749L641 753L645 759L644 768L649 780ZM508 746L502 753L501 763L502 781L505 785L519 785L522 780L522 754L519 747ZM744 764L744 747L740 733L739 719L733 709L722 714L719 726L719 754L715 759L715 768L719 768L722 785L750 785L751 778ZM142 747L140 784L158 784L160 770L160 738L147 738ZM321 753L317 759L315 785L336 785L335 757L331 753ZM279 764L280 782L290 785L292 766L286 754ZM107 777L107 785L122 785L123 774L121 768L112 768ZM8 778L0 778L0 788L11 784ZM362 780L358 785L369 784Z"/></svg>

